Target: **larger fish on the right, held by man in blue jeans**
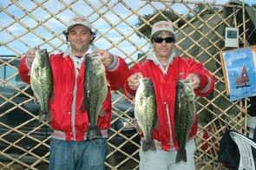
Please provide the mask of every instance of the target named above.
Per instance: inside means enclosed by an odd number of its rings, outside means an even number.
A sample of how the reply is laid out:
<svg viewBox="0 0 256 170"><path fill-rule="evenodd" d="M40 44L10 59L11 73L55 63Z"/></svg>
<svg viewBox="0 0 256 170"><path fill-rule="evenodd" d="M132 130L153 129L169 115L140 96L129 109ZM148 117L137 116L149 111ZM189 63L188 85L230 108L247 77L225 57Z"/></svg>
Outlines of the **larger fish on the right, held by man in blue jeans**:
<svg viewBox="0 0 256 170"><path fill-rule="evenodd" d="M83 83L82 111L87 110L89 116L89 129L87 139L102 138L97 126L99 114L102 113L102 103L108 95L108 82L105 67L96 53L85 56L85 78Z"/></svg>

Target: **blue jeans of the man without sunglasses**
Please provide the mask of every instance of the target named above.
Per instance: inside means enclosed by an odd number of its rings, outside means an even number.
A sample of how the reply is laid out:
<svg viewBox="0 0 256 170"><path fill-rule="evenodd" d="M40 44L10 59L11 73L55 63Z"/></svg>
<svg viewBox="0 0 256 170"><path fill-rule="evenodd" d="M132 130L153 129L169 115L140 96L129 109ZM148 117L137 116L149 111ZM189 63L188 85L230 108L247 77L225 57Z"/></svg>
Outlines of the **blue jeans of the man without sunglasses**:
<svg viewBox="0 0 256 170"><path fill-rule="evenodd" d="M103 170L107 139L50 141L49 170Z"/></svg>

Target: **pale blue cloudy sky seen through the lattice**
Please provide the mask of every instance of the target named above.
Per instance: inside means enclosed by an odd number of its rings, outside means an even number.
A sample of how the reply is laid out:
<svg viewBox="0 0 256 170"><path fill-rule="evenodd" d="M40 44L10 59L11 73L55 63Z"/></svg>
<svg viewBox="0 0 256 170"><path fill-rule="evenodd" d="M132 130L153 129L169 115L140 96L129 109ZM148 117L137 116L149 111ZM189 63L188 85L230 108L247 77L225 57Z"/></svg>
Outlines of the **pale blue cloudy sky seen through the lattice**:
<svg viewBox="0 0 256 170"><path fill-rule="evenodd" d="M9 0L0 1L0 56L19 56L38 44L43 44L41 48L49 49L49 51L54 50L52 46L59 50L66 49L66 44L62 43L65 41L62 31L69 23L69 18L75 15L74 12L71 10L62 11L63 3L58 3L56 0L49 0L47 3L43 3L43 8L36 8L36 5L44 2L43 0L34 2L37 4L30 0L20 0L16 4L11 3ZM130 0L123 0L123 3L118 3L117 0L90 0L88 1L89 3L84 3L83 1L74 3L71 0L62 2L70 6L76 13L89 16L97 32L95 41L97 47L110 49L110 52L119 56L137 56L138 53L147 52L150 49L145 38L140 38L134 34L138 16L132 14L128 8L138 10L138 14L145 15L153 13L154 10L161 10L164 7L161 3L156 2L153 2L152 6L150 6L141 0L138 0L137 3L131 3L132 1ZM214 1L208 0L207 2ZM221 0L216 3L226 2ZM108 5L103 3L108 3ZM256 0L246 0L246 3L253 4L256 3ZM111 7L115 12L109 10ZM36 10L33 10L35 8ZM102 16L95 13L95 9L99 10ZM175 3L172 5L172 9L180 14L187 12L187 8L181 3ZM58 14L59 11L61 11L60 14ZM58 20L51 15L56 16ZM17 22L13 18L17 19ZM124 20L122 21L120 18ZM43 26L36 28L38 24ZM31 29L33 34L26 34L27 29ZM42 39L36 37L35 34ZM18 38L16 39L15 36L18 36ZM54 36L57 36L57 38L54 38ZM128 40L125 40L124 37L127 37ZM48 40L48 42L43 43L43 40ZM138 47L141 49L138 49Z"/></svg>

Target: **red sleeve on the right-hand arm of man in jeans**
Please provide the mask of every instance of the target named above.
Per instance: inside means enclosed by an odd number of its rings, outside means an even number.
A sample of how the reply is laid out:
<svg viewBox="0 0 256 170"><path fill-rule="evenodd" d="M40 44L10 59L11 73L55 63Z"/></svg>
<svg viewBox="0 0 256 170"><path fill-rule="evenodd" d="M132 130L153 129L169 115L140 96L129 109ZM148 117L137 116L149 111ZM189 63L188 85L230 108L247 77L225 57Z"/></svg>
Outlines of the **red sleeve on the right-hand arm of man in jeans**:
<svg viewBox="0 0 256 170"><path fill-rule="evenodd" d="M115 70L108 71L107 69L107 78L112 90L122 88L128 75L128 65L120 56L118 56L117 64Z"/></svg>

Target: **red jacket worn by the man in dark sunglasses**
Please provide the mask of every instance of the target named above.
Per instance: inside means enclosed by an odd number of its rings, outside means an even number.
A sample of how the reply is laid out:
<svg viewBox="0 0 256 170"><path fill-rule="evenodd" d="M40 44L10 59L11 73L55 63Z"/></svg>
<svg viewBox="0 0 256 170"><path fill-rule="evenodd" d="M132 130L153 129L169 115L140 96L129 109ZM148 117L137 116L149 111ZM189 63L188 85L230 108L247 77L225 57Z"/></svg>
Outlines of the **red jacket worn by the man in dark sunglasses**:
<svg viewBox="0 0 256 170"><path fill-rule="evenodd" d="M129 75L141 72L145 77L150 77L154 84L154 93L156 97L158 129L154 128L153 138L160 141L163 150L177 148L177 141L174 139L174 101L175 87L179 79L184 79L189 73L195 73L200 76L200 87L194 92L196 95L206 96L214 88L214 79L210 73L203 68L202 64L195 62L190 58L174 57L169 63L167 73L165 74L160 66L154 60L146 60L136 64L130 70ZM124 93L130 98L135 96L135 91L128 87L128 82L124 85ZM167 115L168 113L168 115ZM170 120L167 120L169 117ZM171 123L171 130L169 123ZM189 134L193 138L197 132L197 119ZM171 134L171 135L170 135Z"/></svg>

